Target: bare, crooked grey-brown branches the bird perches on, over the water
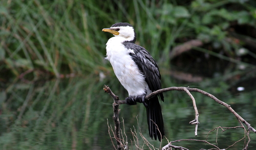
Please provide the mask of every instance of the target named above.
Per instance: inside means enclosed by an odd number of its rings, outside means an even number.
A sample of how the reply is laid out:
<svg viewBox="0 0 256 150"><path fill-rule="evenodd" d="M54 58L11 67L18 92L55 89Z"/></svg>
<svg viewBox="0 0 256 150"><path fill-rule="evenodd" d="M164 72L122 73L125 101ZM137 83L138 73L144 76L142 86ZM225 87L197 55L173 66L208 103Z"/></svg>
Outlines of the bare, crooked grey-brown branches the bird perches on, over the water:
<svg viewBox="0 0 256 150"><path fill-rule="evenodd" d="M120 122L119 122L119 119L118 119L119 111L120 111L120 110L119 110L118 108L119 108L119 104L125 104L125 100L122 100L122 101L121 101L121 100L119 99L119 97L116 96L116 95L111 91L111 89L110 89L108 86L106 86L106 85L104 86L104 90L105 90L105 92L108 92L108 93L112 96L112 98L114 99L114 103L113 103L114 116L113 116L113 119L114 119L114 122L115 122L115 139L116 139L116 142L117 142L117 148L118 148L118 150L119 150L119 149L121 149L121 148L123 147L123 145L121 144L121 139L120 139L120 129L119 129L119 128L120 128ZM194 98L194 96L190 93L191 91L202 93L202 94L204 94L204 95L206 95L206 96L208 96L208 97L214 99L214 101L216 101L217 103L219 103L219 104L225 106L231 113L234 114L234 116L237 117L237 119L238 119L238 121L240 122L241 126L240 126L240 127L231 127L231 128L243 128L243 129L244 129L244 131L245 131L245 136L247 135L247 138L248 138L248 142L245 144L245 147L244 147L243 150L248 149L248 144L249 144L249 142L251 141L251 140L250 140L250 137L249 137L249 132L252 131L252 132L256 133L256 130L255 130L254 128L252 128L252 127L250 126L250 124L249 124L246 120L244 120L237 112L235 112L235 111L231 108L230 105L226 104L225 102L220 101L220 99L218 99L217 97L215 97L214 95L212 95L212 94L210 94L210 93L207 93L207 92L205 92L205 91L203 91L203 90L200 90L200 89L197 89L197 88L189 88L189 87L168 87L168 88L159 89L159 90L157 90L157 91L152 92L151 94L149 94L149 95L147 95L147 96L145 97L145 100L149 100L152 96L155 96L155 95L157 95L157 94L159 94L159 93L163 93L163 92L167 92L167 91L172 91L172 90L176 90L176 91L185 91L185 92L189 95L189 97L192 99L192 101L193 101L193 106L194 106L195 114L196 114L196 115L195 115L195 119L192 120L192 121L190 121L189 123L191 123L191 124L196 124L196 128L195 128L195 135L196 135L196 136L197 136L197 129L198 129L198 124L199 124L199 121L198 121L199 113L198 113L198 109L197 109L197 106L196 106L195 98ZM248 131L245 130L245 128L244 128L244 126L243 126L242 123L246 124L246 126L247 126L247 128L248 128ZM219 128L222 129L222 132L226 131L227 129L231 129L231 128L227 128L227 127L218 127L218 128L215 128L214 130L219 129ZM224 128L225 128L226 130L223 130ZM214 130L211 130L210 132L212 132L212 131L214 131ZM209 133L210 133L210 132L209 132ZM218 131L217 131L217 132L218 132ZM140 149L136 131L132 132L132 134L133 134L133 137L134 137L134 142L135 142L136 147ZM217 134L218 134L218 133L217 133ZM242 139L240 139L239 141L241 141L241 140L243 140L243 139L246 140L245 136L244 136ZM208 137L208 135L207 135L207 137ZM145 139L143 139L143 140L144 140L144 142L145 142ZM187 149L187 148L184 148L184 147L181 147L181 146L175 146L175 145L172 145L172 143L177 142L177 141L188 141L188 140L205 142L205 143L210 144L210 145L212 145L212 146L215 147L215 148L211 148L211 149L220 149L218 146L216 146L216 145L214 145L214 144L211 144L211 143L209 143L209 142L207 142L207 141L204 141L204 140L196 140L196 139L181 139L181 140L172 141L172 142L169 142L167 145L165 145L162 149L170 149L171 147L173 147L173 148L176 148L176 149L185 150L185 149ZM217 140L217 139L216 139L216 140ZM239 141L237 141L237 142L239 142ZM233 146L233 145L236 144L237 142L233 143L233 144L230 145L229 147ZM245 141L245 142L246 142L246 141ZM137 143L138 145L137 145L136 143ZM145 142L145 143L146 143L147 146L149 146L149 144L150 144L150 143L148 143L148 141ZM126 141L126 145L127 145L127 141ZM143 146L142 146L142 147L143 147ZM229 148L229 147L227 147L227 148Z"/></svg>

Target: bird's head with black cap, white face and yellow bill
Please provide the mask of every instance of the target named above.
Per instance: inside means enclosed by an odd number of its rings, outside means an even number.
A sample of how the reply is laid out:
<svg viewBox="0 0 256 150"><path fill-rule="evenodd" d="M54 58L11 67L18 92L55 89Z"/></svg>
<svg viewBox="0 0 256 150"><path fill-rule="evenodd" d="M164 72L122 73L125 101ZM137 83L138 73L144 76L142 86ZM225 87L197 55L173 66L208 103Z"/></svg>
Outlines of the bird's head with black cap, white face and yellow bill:
<svg viewBox="0 0 256 150"><path fill-rule="evenodd" d="M136 41L136 33L133 26L126 22L115 23L110 28L102 29L102 31L112 33L116 37L122 37L128 42L134 43Z"/></svg>

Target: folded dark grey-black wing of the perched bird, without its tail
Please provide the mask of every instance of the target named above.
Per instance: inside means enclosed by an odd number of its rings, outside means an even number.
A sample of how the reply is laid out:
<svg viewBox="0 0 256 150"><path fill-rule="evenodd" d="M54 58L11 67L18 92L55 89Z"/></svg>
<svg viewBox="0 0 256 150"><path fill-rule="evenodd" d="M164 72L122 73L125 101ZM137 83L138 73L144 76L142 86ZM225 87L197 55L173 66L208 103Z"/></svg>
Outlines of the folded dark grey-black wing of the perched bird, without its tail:
<svg viewBox="0 0 256 150"><path fill-rule="evenodd" d="M145 81L152 92L161 89L161 75L155 60L150 53L142 46L131 42L124 42L124 46L128 49L132 49L133 53L130 53L132 59L137 64L140 72L145 76ZM163 94L160 93L161 100L163 100Z"/></svg>

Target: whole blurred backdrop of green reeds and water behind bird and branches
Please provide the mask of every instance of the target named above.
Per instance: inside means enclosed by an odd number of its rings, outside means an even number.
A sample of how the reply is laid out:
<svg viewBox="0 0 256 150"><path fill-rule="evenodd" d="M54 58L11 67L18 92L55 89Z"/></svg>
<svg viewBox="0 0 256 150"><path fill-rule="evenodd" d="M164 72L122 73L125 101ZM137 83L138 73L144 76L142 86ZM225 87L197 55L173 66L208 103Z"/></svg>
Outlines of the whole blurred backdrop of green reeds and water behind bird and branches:
<svg viewBox="0 0 256 150"><path fill-rule="evenodd" d="M104 60L101 32L129 22L136 43L157 61L162 87L199 88L228 103L256 128L256 1L12 1L0 2L0 149L114 149L109 85L121 99L126 90ZM192 93L199 110L198 136L189 96L164 93L166 138L205 140L216 127L240 126L224 106ZM130 148L131 129L148 136L142 104L121 105ZM138 117L138 121L136 119ZM226 148L244 137L243 129L209 134ZM143 145L140 136L140 148ZM251 133L249 149L256 146ZM242 149L246 137L230 149ZM133 143L134 144L134 143ZM167 140L163 140L163 145ZM175 143L189 149L213 148L202 142Z"/></svg>

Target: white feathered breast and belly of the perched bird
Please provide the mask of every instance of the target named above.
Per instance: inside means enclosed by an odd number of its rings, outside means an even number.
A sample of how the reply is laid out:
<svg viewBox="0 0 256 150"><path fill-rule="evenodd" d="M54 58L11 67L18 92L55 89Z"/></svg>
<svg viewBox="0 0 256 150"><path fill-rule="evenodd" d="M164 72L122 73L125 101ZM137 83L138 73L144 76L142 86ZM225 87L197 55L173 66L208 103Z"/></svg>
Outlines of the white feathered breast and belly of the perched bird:
<svg viewBox="0 0 256 150"><path fill-rule="evenodd" d="M110 61L117 79L128 91L129 96L142 95L148 91L143 74L129 53L134 53L132 49L127 49L121 43L122 37L112 37L106 43L106 58Z"/></svg>

